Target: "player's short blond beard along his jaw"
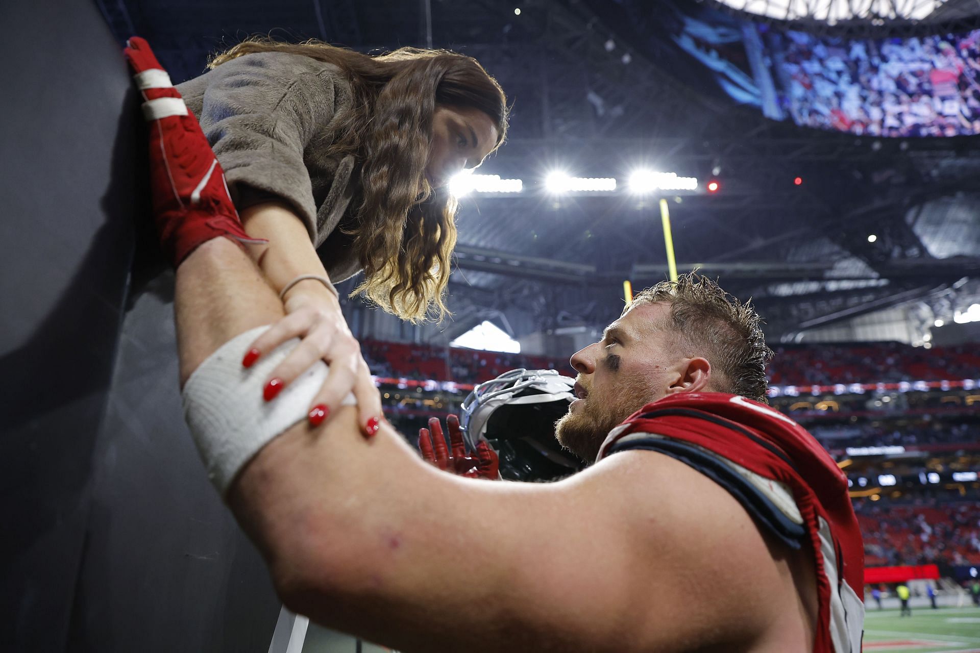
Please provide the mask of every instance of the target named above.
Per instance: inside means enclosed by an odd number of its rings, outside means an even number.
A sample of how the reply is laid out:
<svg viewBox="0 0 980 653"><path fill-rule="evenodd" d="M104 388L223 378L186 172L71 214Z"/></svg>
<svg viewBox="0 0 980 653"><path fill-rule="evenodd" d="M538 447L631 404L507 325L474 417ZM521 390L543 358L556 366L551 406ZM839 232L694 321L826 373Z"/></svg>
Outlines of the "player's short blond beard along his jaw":
<svg viewBox="0 0 980 653"><path fill-rule="evenodd" d="M610 431L654 400L652 388L645 379L624 378L616 391L614 401L586 396L579 410L569 410L555 423L558 442L587 463L595 462Z"/></svg>

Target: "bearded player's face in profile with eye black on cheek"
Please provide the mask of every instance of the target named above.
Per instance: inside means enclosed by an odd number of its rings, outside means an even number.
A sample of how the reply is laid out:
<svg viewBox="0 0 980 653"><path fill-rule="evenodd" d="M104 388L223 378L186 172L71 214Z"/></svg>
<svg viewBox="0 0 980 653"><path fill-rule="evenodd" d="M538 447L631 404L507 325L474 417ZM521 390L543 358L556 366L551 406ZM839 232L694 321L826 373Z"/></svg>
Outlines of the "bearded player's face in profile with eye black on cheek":
<svg viewBox="0 0 980 653"><path fill-rule="evenodd" d="M607 327L603 340L571 357L579 398L559 420L556 437L586 462L595 460L613 428L677 380L684 357L678 339L661 326L668 311L662 303L636 305Z"/></svg>

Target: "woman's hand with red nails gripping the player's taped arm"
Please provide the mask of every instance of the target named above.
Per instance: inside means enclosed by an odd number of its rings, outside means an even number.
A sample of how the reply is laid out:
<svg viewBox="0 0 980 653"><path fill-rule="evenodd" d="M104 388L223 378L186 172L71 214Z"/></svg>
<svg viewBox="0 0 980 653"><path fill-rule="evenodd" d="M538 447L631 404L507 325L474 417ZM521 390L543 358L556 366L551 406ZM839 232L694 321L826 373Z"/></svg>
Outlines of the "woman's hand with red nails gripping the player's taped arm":
<svg viewBox="0 0 980 653"><path fill-rule="evenodd" d="M289 289L283 298L286 315L273 324L249 348L242 365L251 367L262 355L291 338L302 339L270 375L264 390L271 401L283 388L322 359L330 371L310 406L310 424L319 426L347 393L358 400L361 429L373 436L380 425L381 397L370 379L361 345L347 327L340 303L322 283L307 279Z"/></svg>

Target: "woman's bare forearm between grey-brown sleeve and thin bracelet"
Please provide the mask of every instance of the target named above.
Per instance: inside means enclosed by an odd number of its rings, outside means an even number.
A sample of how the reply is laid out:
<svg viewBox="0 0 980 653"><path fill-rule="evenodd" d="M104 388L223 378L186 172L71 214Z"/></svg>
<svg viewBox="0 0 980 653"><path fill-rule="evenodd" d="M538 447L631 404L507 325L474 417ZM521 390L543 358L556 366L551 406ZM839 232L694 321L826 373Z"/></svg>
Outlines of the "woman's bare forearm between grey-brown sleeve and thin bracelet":
<svg viewBox="0 0 980 653"><path fill-rule="evenodd" d="M269 241L257 262L275 292L302 274L327 276L306 226L288 204L257 204L242 210L241 218L250 236Z"/></svg>

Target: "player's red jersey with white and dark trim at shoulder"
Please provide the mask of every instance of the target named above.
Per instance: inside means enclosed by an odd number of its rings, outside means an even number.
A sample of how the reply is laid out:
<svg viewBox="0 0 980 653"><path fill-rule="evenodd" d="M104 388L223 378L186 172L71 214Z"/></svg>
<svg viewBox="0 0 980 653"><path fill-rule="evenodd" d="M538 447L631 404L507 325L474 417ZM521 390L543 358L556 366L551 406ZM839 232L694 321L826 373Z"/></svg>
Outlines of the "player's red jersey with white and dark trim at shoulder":
<svg viewBox="0 0 980 653"><path fill-rule="evenodd" d="M813 651L859 653L864 549L858 519L847 476L806 429L744 396L685 393L631 415L610 433L597 461L638 448L707 474L790 546L799 548L806 537L819 598Z"/></svg>

